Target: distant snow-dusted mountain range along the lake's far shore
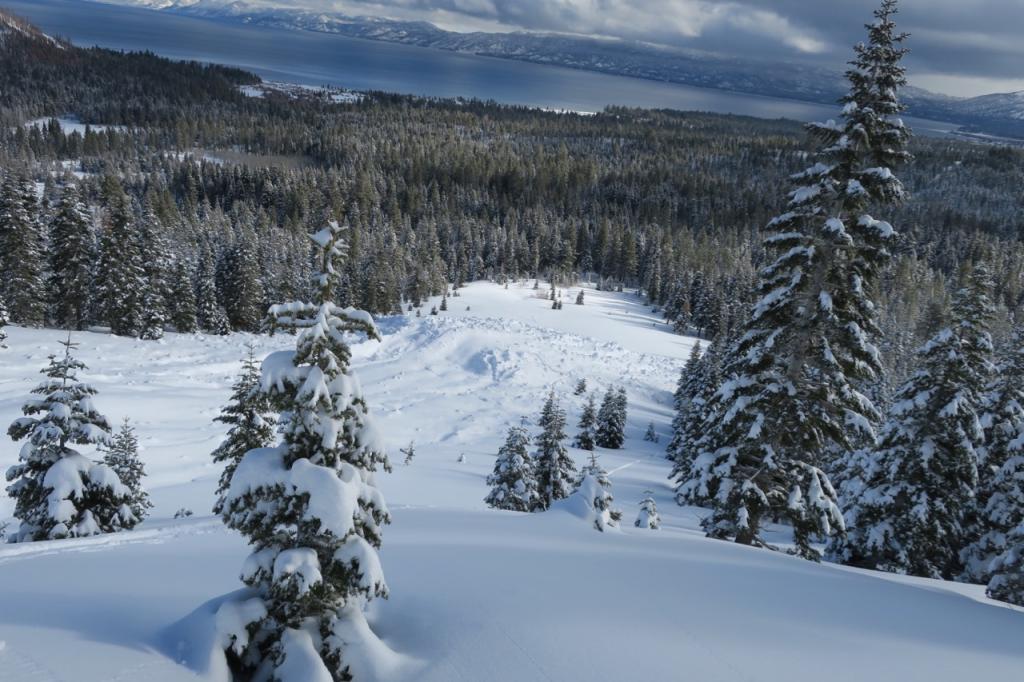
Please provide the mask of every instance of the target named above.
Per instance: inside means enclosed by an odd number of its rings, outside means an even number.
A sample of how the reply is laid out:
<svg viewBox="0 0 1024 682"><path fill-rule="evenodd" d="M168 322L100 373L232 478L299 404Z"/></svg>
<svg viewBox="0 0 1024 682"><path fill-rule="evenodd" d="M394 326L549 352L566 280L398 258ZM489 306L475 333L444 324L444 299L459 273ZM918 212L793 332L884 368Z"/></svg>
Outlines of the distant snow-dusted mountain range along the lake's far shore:
<svg viewBox="0 0 1024 682"><path fill-rule="evenodd" d="M347 16L245 0L93 1L819 103L836 102L847 88L837 71L649 43L522 32L456 33L426 22ZM965 98L908 87L903 100L910 116L956 123L967 132L1024 138L1024 91Z"/></svg>

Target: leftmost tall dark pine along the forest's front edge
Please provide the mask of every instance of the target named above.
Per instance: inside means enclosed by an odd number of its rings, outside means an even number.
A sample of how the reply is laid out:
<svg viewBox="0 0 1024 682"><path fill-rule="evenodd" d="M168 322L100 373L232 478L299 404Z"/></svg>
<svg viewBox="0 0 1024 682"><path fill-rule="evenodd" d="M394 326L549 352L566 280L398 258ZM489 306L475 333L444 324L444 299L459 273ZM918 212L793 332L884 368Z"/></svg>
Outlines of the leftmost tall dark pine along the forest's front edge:
<svg viewBox="0 0 1024 682"><path fill-rule="evenodd" d="M8 173L0 185L0 296L11 322L45 322L44 248L35 185Z"/></svg>

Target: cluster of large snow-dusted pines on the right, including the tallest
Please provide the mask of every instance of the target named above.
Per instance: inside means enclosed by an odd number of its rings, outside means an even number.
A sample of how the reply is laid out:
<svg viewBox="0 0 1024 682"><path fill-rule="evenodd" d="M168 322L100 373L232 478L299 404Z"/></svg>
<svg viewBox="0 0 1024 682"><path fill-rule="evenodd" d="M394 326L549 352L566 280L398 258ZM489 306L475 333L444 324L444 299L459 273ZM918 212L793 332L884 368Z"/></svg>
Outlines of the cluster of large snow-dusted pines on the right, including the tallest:
<svg viewBox="0 0 1024 682"><path fill-rule="evenodd" d="M672 475L681 504L712 509L709 537L767 547L765 525L785 521L805 558L825 545L844 563L987 583L1022 603L1022 337L1018 323L993 343L1013 313L991 257L963 263L948 312L936 301L919 329L894 330L896 345L931 337L909 361L891 353L909 370L887 368L877 345L897 239L874 215L907 199L898 174L912 163L896 4L883 0L855 47L839 122L808 126L815 163L768 223L772 260L740 333L695 347L682 371Z"/></svg>

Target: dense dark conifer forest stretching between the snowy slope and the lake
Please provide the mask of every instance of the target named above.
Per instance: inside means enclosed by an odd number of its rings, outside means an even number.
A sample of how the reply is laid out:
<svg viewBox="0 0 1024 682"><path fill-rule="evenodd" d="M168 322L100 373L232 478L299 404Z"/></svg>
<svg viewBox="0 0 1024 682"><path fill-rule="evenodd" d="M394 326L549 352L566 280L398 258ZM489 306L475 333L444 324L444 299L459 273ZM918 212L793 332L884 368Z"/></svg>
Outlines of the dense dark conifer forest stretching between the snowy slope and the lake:
<svg viewBox="0 0 1024 682"><path fill-rule="evenodd" d="M343 297L373 312L445 282L593 272L712 338L745 313L777 188L808 158L782 121L246 96L258 79L237 70L83 50L10 22L0 202L32 226L11 239L37 243L6 249L3 294L31 325L255 330L266 302L306 286L305 235L336 216L353 229ZM911 152L878 292L896 379L972 263L993 273L997 340L1024 301L1024 153L936 138ZM57 304L69 297L74 310Z"/></svg>

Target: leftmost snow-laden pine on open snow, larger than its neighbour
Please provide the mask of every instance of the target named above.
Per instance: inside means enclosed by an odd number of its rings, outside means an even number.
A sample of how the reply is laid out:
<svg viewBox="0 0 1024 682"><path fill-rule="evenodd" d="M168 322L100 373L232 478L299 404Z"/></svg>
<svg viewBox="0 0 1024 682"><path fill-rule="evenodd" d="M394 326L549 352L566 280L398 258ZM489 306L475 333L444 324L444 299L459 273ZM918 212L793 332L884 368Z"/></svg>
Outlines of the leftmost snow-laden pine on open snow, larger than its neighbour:
<svg viewBox="0 0 1024 682"><path fill-rule="evenodd" d="M78 538L131 528L130 491L105 464L72 445L105 445L110 424L92 402L96 390L78 380L85 365L72 355L76 344L61 342L62 355L50 355L46 379L25 403L25 417L7 430L25 439L18 463L7 470L7 495L22 522L12 542Z"/></svg>

